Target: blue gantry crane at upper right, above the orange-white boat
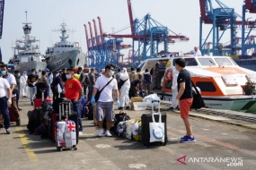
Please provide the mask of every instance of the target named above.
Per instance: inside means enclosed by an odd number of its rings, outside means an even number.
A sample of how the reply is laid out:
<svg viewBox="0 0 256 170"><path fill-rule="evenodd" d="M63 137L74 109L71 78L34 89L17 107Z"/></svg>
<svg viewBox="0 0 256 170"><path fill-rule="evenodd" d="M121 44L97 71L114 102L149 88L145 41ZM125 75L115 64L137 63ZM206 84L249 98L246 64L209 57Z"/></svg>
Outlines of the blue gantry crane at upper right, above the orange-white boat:
<svg viewBox="0 0 256 170"><path fill-rule="evenodd" d="M219 5L214 9L212 0L199 0L200 4L200 28L199 28L199 48L203 55L213 53L213 55L237 55L238 54L238 42L237 42L237 26L238 25L252 25L253 21L236 21L237 17L243 19L238 13L234 12L234 8L229 8L223 4L220 0L215 0ZM212 28L209 31L207 38L202 38L204 24L212 24ZM230 45L224 47L220 40L225 34L226 30L230 30ZM222 31L222 32L221 32ZM212 47L204 49L204 45L207 43L207 39L212 34Z"/></svg>

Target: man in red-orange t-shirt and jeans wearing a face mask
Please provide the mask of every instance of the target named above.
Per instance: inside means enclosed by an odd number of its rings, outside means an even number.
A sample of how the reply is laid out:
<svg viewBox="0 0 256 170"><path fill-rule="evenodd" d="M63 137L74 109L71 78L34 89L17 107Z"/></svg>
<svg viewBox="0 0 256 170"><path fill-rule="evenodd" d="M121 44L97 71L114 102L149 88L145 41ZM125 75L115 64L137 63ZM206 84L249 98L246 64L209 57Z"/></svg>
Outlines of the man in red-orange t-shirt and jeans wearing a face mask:
<svg viewBox="0 0 256 170"><path fill-rule="evenodd" d="M82 85L80 81L74 78L75 71L73 68L66 70L65 97L72 101L73 111L77 113L79 123L79 134L83 134L82 119L80 114L80 99L82 97Z"/></svg>

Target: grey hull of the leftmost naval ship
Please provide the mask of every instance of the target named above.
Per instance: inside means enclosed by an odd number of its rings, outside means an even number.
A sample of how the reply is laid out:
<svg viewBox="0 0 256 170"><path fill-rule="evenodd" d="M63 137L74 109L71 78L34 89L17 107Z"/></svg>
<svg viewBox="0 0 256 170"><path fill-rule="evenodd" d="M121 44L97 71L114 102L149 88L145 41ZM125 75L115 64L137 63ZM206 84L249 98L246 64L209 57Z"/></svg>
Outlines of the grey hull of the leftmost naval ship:
<svg viewBox="0 0 256 170"><path fill-rule="evenodd" d="M27 74L31 74L31 69L35 69L36 72L43 71L46 68L47 64L45 62L25 62L21 64L15 64L15 67L17 70L20 70L20 72L26 71Z"/></svg>

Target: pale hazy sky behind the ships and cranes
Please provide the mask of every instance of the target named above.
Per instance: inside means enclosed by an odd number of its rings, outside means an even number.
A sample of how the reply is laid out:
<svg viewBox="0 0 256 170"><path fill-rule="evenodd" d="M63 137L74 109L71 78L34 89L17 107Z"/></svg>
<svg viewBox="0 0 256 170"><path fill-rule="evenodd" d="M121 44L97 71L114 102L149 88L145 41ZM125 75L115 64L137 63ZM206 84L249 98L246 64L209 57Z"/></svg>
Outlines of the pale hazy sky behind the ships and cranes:
<svg viewBox="0 0 256 170"><path fill-rule="evenodd" d="M217 7L215 0L212 0ZM222 0L227 6L234 8L242 15L243 0ZM199 0L131 0L134 18L141 19L147 13L151 17L176 34L190 38L189 42L177 42L169 46L169 51L185 53L195 46L199 46ZM129 25L127 0L5 0L4 29L0 47L3 61L8 62L13 56L14 42L23 36L22 22L26 21L25 11L28 12L28 21L32 22L31 36L40 39L40 52L45 54L47 47L59 40L60 33L52 30L59 29L62 22L66 22L67 29L75 30L69 33L69 41L80 43L84 53L87 46L84 33L84 23L97 21L102 18L103 32L111 33ZM248 14L255 20L256 15ZM97 21L98 34L99 25ZM210 26L204 26L203 35L207 36ZM119 33L130 34L130 29ZM93 33L94 35L94 33ZM238 37L242 37L238 31ZM222 41L228 42L228 35ZM131 44L130 38L124 38L124 44ZM161 47L160 47L161 50ZM128 55L128 50L121 51Z"/></svg>

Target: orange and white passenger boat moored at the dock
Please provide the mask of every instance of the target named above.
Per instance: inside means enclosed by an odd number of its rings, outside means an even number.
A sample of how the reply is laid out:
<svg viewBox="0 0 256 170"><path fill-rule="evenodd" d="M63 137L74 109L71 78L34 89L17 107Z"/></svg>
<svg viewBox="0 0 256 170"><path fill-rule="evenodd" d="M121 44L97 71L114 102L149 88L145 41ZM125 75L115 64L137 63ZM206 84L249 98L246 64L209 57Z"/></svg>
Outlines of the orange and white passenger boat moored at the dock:
<svg viewBox="0 0 256 170"><path fill-rule="evenodd" d="M256 72L240 67L229 56L179 56L186 61L191 80L199 87L208 108L256 114ZM142 72L160 62L164 100L172 99L172 70L177 57L147 59L139 65Z"/></svg>

